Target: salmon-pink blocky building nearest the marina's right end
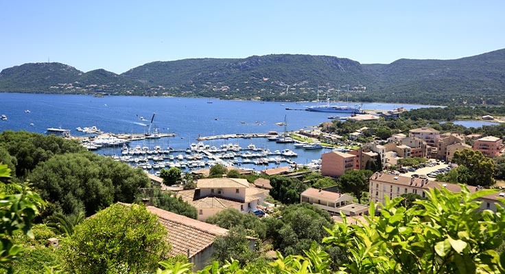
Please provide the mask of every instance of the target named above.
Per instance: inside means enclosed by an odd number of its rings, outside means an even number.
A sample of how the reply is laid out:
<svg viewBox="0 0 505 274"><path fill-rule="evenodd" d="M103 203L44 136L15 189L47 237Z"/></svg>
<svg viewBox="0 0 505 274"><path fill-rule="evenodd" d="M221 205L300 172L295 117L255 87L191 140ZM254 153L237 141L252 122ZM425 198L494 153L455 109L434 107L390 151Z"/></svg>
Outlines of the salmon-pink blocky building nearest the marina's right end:
<svg viewBox="0 0 505 274"><path fill-rule="evenodd" d="M340 177L346 171L360 169L360 159L356 155L331 151L321 155L321 175Z"/></svg>

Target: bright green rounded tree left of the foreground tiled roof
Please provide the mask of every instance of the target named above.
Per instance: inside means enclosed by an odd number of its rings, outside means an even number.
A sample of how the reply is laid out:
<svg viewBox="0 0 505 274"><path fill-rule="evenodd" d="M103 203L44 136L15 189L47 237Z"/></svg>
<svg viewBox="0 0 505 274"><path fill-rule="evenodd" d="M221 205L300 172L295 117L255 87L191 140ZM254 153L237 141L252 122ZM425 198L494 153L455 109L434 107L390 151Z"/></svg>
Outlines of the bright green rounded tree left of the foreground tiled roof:
<svg viewBox="0 0 505 274"><path fill-rule="evenodd" d="M115 204L84 220L62 240L62 258L74 273L147 273L170 249L167 230L145 206Z"/></svg>

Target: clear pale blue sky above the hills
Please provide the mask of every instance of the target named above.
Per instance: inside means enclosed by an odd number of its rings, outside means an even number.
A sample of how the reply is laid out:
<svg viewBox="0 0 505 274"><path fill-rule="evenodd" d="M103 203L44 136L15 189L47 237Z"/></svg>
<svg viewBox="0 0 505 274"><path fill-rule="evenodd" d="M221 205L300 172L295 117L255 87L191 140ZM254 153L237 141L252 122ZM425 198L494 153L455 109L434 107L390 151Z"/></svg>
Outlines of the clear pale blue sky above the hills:
<svg viewBox="0 0 505 274"><path fill-rule="evenodd" d="M0 1L0 69L123 73L185 58L302 53L388 64L505 48L505 1Z"/></svg>

